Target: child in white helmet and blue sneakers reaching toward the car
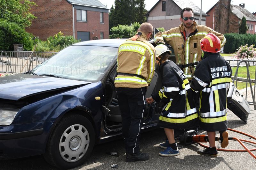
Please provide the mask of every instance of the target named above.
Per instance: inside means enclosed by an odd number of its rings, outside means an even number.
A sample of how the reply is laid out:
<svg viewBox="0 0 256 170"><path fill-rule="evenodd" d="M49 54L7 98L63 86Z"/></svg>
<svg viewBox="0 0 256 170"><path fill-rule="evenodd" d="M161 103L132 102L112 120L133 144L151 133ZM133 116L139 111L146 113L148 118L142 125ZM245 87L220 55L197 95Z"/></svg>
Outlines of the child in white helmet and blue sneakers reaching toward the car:
<svg viewBox="0 0 256 170"><path fill-rule="evenodd" d="M146 100L148 103L154 100L164 102L158 126L164 128L168 145L164 151L159 152L159 155L176 156L179 155L179 149L174 140L173 129L195 127L198 123L198 114L188 79L175 63L168 60L171 51L163 44L157 45L155 49L163 89L151 94L152 97Z"/></svg>

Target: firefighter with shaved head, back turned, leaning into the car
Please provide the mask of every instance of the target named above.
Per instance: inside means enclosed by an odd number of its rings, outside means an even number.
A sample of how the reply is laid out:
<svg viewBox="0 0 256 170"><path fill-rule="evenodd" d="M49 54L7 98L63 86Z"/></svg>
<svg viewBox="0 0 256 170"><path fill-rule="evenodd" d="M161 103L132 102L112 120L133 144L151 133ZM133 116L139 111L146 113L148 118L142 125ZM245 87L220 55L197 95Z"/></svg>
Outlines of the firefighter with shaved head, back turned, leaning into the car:
<svg viewBox="0 0 256 170"><path fill-rule="evenodd" d="M122 114L122 132L126 162L148 160L140 152L140 129L143 124L147 87L154 76L156 52L148 40L153 33L149 23L141 24L137 34L118 48L115 87Z"/></svg>

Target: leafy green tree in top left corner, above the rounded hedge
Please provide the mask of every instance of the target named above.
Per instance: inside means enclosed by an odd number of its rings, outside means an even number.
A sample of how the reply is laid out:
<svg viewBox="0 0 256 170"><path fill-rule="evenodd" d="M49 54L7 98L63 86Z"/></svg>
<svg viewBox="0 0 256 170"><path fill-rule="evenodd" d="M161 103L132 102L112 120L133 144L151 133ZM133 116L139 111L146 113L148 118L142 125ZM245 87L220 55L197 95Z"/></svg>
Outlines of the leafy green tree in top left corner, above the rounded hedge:
<svg viewBox="0 0 256 170"><path fill-rule="evenodd" d="M31 20L36 18L29 12L36 3L29 0L0 0L0 18L16 23L22 28L31 26Z"/></svg>

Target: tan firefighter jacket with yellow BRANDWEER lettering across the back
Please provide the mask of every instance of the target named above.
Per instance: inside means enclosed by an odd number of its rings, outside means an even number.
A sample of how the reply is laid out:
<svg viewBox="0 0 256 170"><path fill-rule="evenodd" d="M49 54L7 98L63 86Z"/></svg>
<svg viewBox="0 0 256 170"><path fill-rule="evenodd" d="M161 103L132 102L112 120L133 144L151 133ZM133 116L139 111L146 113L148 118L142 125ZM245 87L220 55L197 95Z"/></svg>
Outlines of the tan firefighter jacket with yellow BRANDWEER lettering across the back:
<svg viewBox="0 0 256 170"><path fill-rule="evenodd" d="M140 88L154 76L156 52L143 32L124 41L118 48L116 87Z"/></svg>

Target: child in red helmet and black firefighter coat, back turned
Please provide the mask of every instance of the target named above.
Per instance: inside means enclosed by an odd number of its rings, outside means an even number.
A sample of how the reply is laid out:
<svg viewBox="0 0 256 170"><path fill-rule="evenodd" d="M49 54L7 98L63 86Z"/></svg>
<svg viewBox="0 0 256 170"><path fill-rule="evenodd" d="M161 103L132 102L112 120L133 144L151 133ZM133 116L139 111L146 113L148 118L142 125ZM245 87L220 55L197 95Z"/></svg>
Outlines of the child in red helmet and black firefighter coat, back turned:
<svg viewBox="0 0 256 170"><path fill-rule="evenodd" d="M199 124L207 132L210 147L199 154L217 156L215 132L220 131L221 147L228 145L227 90L232 70L220 55L220 39L212 33L200 40L204 59L196 66L191 88L200 93Z"/></svg>

